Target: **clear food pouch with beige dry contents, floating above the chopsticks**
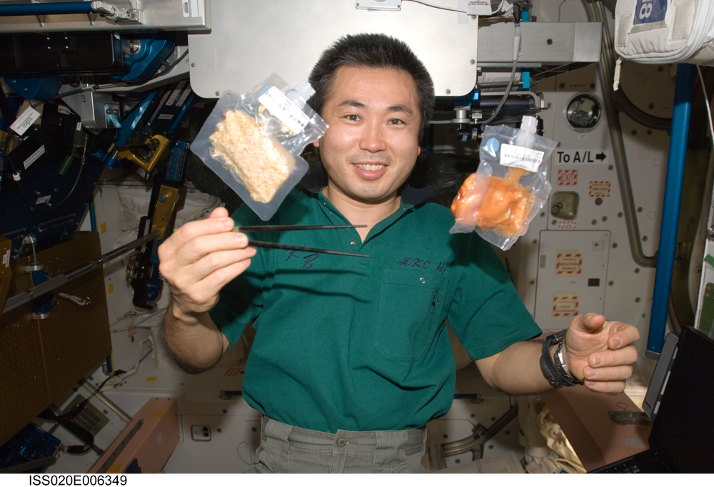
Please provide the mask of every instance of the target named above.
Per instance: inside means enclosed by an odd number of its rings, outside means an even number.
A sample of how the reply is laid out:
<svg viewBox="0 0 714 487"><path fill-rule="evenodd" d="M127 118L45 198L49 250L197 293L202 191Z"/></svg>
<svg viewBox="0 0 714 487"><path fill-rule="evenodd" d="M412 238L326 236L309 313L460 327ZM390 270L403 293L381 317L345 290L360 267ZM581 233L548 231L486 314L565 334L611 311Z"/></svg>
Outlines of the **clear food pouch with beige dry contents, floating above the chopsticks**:
<svg viewBox="0 0 714 487"><path fill-rule="evenodd" d="M279 76L244 95L225 91L191 144L209 169L261 220L270 220L308 170L301 153L327 124L306 104L307 81L291 89Z"/></svg>

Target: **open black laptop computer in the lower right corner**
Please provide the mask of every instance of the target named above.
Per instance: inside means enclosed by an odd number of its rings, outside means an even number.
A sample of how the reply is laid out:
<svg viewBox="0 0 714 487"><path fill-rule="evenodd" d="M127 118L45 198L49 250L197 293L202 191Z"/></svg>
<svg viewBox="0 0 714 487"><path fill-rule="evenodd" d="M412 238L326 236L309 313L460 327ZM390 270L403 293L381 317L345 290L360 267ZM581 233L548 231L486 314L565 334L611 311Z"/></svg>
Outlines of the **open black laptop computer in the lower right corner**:
<svg viewBox="0 0 714 487"><path fill-rule="evenodd" d="M650 449L590 473L714 473L714 341L684 327L664 381Z"/></svg>

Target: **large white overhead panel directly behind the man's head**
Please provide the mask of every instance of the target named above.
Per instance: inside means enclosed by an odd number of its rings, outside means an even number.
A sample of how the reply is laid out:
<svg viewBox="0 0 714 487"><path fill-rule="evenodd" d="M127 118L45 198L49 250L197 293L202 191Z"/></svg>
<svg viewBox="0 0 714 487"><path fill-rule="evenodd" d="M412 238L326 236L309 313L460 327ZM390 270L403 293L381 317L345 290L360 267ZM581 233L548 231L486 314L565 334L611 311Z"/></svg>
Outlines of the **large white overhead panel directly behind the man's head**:
<svg viewBox="0 0 714 487"><path fill-rule="evenodd" d="M295 86L334 41L363 32L408 43L437 96L465 95L476 83L478 21L466 14L414 2L402 2L400 11L368 11L355 0L213 0L211 11L211 33L188 37L191 88L203 98L244 93L271 73Z"/></svg>

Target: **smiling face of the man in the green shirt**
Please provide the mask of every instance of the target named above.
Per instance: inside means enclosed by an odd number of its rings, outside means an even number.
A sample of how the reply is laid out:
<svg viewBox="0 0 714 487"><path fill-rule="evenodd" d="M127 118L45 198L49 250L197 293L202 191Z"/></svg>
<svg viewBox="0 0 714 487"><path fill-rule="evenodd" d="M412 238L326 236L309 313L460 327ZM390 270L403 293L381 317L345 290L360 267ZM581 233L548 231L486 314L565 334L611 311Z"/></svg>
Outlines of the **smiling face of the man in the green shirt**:
<svg viewBox="0 0 714 487"><path fill-rule="evenodd" d="M411 74L392 68L338 68L323 106L330 125L315 145L329 190L356 203L394 198L421 153L419 110Z"/></svg>

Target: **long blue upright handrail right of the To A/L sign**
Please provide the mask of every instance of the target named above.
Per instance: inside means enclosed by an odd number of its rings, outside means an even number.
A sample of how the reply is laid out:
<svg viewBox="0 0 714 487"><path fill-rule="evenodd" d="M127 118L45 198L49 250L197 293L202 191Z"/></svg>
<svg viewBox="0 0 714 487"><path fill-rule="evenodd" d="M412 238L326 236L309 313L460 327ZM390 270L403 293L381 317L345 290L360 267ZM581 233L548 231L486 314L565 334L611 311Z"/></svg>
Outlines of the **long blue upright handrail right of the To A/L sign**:
<svg viewBox="0 0 714 487"><path fill-rule="evenodd" d="M677 81L674 92L674 111L672 113L672 135L667 160L667 181L662 208L660 245L657 251L657 274L655 292L652 299L650 332L647 337L647 352L650 358L659 357L665 339L667 311L672 288L679 209L682 203L684 184L684 165L687 158L687 139L689 136L689 117L692 111L692 86L694 66L680 63L677 66Z"/></svg>

